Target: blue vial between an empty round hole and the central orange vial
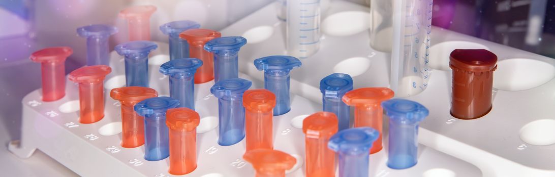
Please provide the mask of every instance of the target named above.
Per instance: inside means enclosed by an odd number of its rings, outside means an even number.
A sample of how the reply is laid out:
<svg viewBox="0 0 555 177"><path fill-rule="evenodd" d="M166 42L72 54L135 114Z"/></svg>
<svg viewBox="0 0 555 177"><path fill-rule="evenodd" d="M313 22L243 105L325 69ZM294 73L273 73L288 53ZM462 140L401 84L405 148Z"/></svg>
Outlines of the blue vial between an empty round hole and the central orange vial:
<svg viewBox="0 0 555 177"><path fill-rule="evenodd" d="M230 146L245 137L245 107L243 93L253 85L246 79L235 78L217 82L210 92L218 98L220 146Z"/></svg>

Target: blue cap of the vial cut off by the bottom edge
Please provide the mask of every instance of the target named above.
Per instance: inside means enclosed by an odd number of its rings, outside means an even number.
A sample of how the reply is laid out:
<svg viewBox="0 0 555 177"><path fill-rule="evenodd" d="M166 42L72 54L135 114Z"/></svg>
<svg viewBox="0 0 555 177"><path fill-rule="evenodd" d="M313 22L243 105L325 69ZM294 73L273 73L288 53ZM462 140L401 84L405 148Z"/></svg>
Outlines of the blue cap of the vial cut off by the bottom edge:
<svg viewBox="0 0 555 177"><path fill-rule="evenodd" d="M372 143L380 136L380 132L370 127L349 128L337 132L330 138L327 146L335 151L346 154L369 154Z"/></svg>

